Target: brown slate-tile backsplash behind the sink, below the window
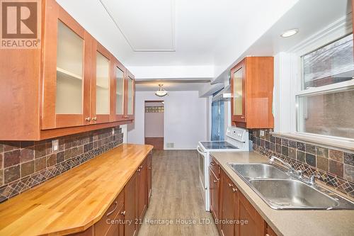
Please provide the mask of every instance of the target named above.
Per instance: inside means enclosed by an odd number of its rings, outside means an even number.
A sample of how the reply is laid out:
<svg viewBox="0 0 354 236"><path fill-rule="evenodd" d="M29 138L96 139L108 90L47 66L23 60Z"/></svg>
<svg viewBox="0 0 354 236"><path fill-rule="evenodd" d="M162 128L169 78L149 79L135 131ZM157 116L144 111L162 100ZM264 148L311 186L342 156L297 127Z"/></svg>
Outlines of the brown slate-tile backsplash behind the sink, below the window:
<svg viewBox="0 0 354 236"><path fill-rule="evenodd" d="M354 153L274 137L272 130L264 130L265 135L261 136L260 131L249 130L253 150L280 157L307 176L319 174L324 184L354 198Z"/></svg>

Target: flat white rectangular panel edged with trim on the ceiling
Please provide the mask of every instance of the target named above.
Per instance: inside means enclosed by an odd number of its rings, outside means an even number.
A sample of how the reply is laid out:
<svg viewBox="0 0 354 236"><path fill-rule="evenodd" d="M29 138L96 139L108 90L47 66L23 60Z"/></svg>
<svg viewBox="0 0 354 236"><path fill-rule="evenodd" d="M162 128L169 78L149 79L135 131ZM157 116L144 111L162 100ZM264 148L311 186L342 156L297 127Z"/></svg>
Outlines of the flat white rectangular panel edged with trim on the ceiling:
<svg viewBox="0 0 354 236"><path fill-rule="evenodd" d="M134 52L175 49L173 0L100 0Z"/></svg>

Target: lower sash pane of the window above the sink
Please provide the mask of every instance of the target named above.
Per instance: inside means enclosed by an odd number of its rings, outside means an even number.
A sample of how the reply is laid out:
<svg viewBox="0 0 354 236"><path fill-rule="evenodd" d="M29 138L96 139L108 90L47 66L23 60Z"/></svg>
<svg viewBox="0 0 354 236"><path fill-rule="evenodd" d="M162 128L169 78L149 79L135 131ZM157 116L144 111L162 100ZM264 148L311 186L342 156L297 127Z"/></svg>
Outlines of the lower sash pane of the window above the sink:
<svg viewBox="0 0 354 236"><path fill-rule="evenodd" d="M297 131L354 138L354 89L298 96Z"/></svg>

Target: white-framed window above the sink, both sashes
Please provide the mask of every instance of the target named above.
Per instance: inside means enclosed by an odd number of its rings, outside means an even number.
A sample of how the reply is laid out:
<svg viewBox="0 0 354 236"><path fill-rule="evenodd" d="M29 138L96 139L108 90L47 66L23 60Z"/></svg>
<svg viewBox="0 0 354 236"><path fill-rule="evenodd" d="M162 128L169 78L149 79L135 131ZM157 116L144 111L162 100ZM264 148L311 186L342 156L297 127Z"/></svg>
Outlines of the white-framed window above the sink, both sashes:
<svg viewBox="0 0 354 236"><path fill-rule="evenodd" d="M354 139L353 34L301 57L297 132Z"/></svg>

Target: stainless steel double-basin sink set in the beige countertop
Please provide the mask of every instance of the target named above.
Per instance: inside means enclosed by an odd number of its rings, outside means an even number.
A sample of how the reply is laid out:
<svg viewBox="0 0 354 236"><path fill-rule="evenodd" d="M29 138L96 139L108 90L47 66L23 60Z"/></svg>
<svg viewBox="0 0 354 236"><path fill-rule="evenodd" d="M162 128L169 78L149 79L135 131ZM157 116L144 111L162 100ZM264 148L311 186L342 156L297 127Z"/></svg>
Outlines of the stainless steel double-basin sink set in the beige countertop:
<svg viewBox="0 0 354 236"><path fill-rule="evenodd" d="M229 162L227 165L273 209L354 209L354 203L346 198L309 184L275 164Z"/></svg>

